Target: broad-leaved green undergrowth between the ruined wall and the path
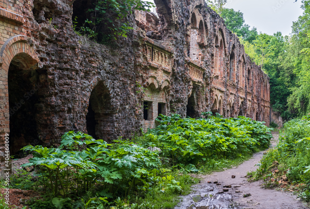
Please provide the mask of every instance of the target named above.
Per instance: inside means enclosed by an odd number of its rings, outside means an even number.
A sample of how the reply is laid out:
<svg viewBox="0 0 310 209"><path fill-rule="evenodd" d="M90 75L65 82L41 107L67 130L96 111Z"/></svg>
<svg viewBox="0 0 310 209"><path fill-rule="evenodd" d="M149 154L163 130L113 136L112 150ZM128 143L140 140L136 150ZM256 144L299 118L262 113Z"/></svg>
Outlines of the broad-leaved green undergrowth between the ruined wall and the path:
<svg viewBox="0 0 310 209"><path fill-rule="evenodd" d="M113 144L70 131L58 148L28 145L33 158L23 166L34 166L37 177L19 173L11 185L42 194L28 202L32 209L173 208L199 181L190 173L239 164L269 145L271 129L262 122L207 117L160 115L155 129Z"/></svg>

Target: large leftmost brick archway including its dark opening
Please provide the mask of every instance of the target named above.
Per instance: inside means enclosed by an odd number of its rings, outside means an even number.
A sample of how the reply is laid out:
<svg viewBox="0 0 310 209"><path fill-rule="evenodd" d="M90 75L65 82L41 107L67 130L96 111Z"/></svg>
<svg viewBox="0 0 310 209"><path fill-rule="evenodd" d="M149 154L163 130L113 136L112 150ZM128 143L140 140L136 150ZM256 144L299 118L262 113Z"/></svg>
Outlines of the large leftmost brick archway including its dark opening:
<svg viewBox="0 0 310 209"><path fill-rule="evenodd" d="M10 155L17 154L27 144L39 143L35 107L38 104L35 67L38 57L30 42L27 36L12 36L0 50L0 96L3 98L0 137L10 135Z"/></svg>

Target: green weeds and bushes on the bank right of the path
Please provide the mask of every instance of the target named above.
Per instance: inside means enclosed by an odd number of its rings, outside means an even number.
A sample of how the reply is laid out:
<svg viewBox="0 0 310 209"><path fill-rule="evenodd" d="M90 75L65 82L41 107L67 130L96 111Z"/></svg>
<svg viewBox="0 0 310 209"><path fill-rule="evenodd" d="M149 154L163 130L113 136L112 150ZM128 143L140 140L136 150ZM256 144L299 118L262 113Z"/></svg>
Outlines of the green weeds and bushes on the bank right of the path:
<svg viewBox="0 0 310 209"><path fill-rule="evenodd" d="M286 122L277 147L268 150L255 172L256 179L272 178L272 163L279 162L278 176L286 174L290 185L298 185L299 196L310 201L310 115ZM270 182L272 184L272 182ZM274 182L277 186L278 182Z"/></svg>

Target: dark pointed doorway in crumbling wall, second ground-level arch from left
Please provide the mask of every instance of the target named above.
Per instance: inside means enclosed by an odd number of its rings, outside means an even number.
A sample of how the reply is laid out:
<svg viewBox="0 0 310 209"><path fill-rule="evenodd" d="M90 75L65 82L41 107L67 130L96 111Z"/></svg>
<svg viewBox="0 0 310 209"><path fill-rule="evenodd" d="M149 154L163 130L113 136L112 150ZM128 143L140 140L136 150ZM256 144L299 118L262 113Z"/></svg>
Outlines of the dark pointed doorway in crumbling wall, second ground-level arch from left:
<svg viewBox="0 0 310 209"><path fill-rule="evenodd" d="M100 81L92 90L86 114L86 131L94 139L117 139L115 109L108 88Z"/></svg>

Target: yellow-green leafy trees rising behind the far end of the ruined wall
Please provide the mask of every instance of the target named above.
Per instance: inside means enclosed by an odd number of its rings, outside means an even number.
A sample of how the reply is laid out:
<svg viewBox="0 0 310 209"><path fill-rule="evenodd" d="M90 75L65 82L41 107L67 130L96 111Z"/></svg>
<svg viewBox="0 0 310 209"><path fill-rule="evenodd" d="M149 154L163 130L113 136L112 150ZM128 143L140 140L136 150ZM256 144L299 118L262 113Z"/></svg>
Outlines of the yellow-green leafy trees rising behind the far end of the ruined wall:
<svg viewBox="0 0 310 209"><path fill-rule="evenodd" d="M270 77L270 101L275 112L280 112L286 120L294 114L288 111L287 98L296 83L292 65L291 38L283 37L281 32L273 35L259 34L250 43L241 39L246 53L262 66Z"/></svg>

